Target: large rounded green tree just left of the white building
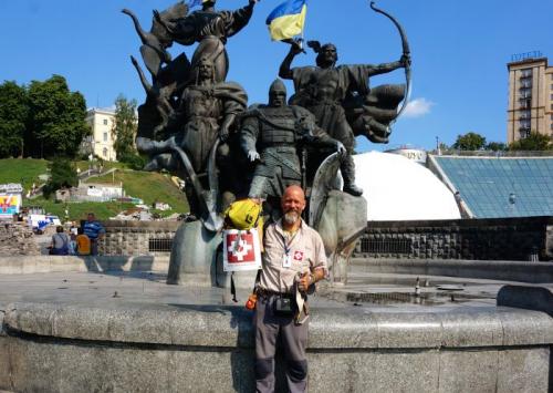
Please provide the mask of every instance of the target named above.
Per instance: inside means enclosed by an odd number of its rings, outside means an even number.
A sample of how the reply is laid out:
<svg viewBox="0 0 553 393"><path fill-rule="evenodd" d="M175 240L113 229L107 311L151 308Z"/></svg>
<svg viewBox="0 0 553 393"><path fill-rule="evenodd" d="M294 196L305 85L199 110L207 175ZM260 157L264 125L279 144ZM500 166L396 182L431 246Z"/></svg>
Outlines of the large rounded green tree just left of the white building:
<svg viewBox="0 0 553 393"><path fill-rule="evenodd" d="M29 108L25 145L30 148L25 154L41 158L74 157L84 136L90 134L83 95L71 92L63 76L53 75L44 82L31 82Z"/></svg>

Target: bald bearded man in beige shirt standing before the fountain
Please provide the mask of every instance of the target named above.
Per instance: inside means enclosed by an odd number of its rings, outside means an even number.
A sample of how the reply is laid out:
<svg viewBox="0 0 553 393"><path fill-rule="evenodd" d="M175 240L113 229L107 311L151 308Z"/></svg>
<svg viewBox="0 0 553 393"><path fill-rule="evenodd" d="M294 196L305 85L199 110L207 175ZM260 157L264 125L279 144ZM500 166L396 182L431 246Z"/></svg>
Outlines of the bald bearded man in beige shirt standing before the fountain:
<svg viewBox="0 0 553 393"><path fill-rule="evenodd" d="M264 235L263 268L257 288L257 392L274 392L274 354L279 335L286 358L289 391L306 390L309 320L299 322L300 312L294 307L294 299L298 291L304 296L310 286L327 276L323 240L301 218L305 208L303 189L288 187L281 207L283 217L271 224Z"/></svg>

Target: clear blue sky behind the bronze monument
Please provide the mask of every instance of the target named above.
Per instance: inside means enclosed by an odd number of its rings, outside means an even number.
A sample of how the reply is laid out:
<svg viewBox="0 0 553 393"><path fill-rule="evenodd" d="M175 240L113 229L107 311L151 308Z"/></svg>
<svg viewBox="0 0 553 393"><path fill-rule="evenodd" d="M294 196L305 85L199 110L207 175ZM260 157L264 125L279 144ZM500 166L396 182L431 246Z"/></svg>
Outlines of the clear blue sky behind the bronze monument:
<svg viewBox="0 0 553 393"><path fill-rule="evenodd" d="M139 40L121 9L136 12L149 30L152 10L163 0L0 0L0 81L29 83L52 74L67 79L88 106L111 106L123 93L144 101L131 64L139 58ZM247 0L219 0L218 9L236 9ZM271 42L264 24L280 0L262 0L250 24L231 38L228 80L239 82L250 103L265 102L269 84L289 46ZM306 39L332 41L340 63L382 63L399 59L401 44L392 22L365 0L311 0ZM507 138L508 73L511 55L539 50L553 55L553 2L550 0L380 0L407 31L413 53L411 108L394 126L389 145L358 139L358 151L403 144L432 148L436 136L452 144L474 131L488 141ZM175 45L174 54L194 46ZM293 65L314 63L300 55ZM403 83L403 70L372 80ZM291 85L289 84L291 87Z"/></svg>

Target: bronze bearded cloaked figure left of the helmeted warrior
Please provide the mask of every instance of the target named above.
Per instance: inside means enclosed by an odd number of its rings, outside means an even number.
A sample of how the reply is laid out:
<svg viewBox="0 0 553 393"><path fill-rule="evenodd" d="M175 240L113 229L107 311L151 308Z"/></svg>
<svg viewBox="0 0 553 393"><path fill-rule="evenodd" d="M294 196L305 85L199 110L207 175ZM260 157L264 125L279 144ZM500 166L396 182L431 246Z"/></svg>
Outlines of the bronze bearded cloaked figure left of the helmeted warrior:
<svg viewBox="0 0 553 393"><path fill-rule="evenodd" d="M146 165L147 170L178 173L184 166L181 177L191 179L186 188L191 211L202 217L213 214L215 200L211 200L210 211L206 211L207 204L198 199L204 198L205 189L213 190L216 186L199 182L196 175L206 173L209 167L215 172L215 163L210 161L217 158L217 152L228 152L219 147L219 141L227 139L236 116L247 107L248 96L237 83L216 82L215 65L210 59L200 59L192 74L195 83L185 89L180 105L168 125L174 131L171 136L163 142L137 137L136 146L152 157ZM211 173L210 176L216 175ZM217 198L213 196L212 199Z"/></svg>

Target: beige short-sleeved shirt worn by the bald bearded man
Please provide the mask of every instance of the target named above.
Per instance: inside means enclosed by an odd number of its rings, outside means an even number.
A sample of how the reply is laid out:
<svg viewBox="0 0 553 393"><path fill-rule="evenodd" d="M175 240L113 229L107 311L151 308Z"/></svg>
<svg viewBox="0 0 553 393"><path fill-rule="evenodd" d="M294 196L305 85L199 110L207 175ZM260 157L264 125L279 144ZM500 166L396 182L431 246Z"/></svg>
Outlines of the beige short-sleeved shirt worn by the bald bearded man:
<svg viewBox="0 0 553 393"><path fill-rule="evenodd" d="M303 220L291 241L284 235L282 220L269 225L263 240L263 269L259 281L261 288L273 292L292 293L298 273L324 269L327 276L323 240ZM291 260L289 268L283 267L285 245Z"/></svg>

